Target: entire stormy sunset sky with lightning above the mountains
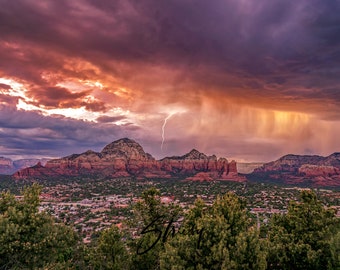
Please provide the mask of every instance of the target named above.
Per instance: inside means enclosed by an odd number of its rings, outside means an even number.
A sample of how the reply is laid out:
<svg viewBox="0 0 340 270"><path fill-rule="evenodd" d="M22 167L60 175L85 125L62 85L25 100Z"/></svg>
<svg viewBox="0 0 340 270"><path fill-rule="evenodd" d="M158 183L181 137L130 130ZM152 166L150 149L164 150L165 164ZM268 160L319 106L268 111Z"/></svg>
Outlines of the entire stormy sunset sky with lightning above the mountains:
<svg viewBox="0 0 340 270"><path fill-rule="evenodd" d="M340 151L340 1L0 0L0 156Z"/></svg>

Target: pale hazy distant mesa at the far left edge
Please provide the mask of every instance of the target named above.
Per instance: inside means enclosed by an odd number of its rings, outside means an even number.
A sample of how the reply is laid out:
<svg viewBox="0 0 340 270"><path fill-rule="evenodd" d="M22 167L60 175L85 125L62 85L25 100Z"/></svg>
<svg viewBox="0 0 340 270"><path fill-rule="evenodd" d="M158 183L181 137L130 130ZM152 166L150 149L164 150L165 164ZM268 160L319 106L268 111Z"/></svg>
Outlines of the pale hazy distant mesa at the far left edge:
<svg viewBox="0 0 340 270"><path fill-rule="evenodd" d="M38 162L46 164L48 159L19 159L12 160L10 158L0 157L0 174L11 175L23 168L36 165Z"/></svg>

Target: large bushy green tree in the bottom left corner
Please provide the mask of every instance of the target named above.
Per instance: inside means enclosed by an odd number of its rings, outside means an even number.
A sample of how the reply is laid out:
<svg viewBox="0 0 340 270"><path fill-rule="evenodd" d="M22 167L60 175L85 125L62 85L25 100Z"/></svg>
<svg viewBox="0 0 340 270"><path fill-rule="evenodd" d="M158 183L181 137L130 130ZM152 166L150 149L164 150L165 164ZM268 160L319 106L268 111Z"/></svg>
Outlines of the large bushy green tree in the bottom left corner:
<svg viewBox="0 0 340 270"><path fill-rule="evenodd" d="M38 269L66 266L72 261L78 237L74 230L39 212L41 186L33 184L17 200L0 195L0 269Z"/></svg>

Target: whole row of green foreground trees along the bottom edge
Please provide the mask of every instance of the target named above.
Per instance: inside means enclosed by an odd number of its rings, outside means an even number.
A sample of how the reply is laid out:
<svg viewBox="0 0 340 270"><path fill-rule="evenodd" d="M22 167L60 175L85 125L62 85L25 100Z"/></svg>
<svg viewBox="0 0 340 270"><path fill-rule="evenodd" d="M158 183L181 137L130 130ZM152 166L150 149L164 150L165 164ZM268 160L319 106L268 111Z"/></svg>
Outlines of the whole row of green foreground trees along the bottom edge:
<svg viewBox="0 0 340 270"><path fill-rule="evenodd" d="M186 212L145 190L122 228L85 245L75 230L39 211L41 186L0 196L0 269L339 269L335 212L312 191L261 228L228 192Z"/></svg>

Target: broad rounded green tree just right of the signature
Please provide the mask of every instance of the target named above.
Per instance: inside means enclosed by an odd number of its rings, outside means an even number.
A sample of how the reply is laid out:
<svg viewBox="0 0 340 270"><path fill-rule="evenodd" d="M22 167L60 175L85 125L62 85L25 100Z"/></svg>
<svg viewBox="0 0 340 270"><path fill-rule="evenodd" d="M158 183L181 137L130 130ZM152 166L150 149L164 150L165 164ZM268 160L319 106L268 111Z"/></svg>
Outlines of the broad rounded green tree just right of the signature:
<svg viewBox="0 0 340 270"><path fill-rule="evenodd" d="M233 193L212 206L202 200L165 245L162 269L265 269L265 252L244 202Z"/></svg>

